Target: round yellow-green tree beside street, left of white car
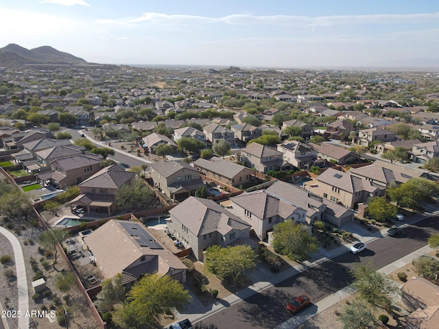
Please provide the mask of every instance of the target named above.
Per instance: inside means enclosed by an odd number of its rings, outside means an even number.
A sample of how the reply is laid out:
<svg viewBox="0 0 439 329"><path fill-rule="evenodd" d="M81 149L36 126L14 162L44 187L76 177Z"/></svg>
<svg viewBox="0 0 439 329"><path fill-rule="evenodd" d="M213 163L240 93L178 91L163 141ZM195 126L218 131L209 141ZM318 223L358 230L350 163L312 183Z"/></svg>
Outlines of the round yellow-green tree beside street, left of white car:
<svg viewBox="0 0 439 329"><path fill-rule="evenodd" d="M292 260L300 260L318 250L318 241L302 225L287 219L273 226L273 248Z"/></svg>

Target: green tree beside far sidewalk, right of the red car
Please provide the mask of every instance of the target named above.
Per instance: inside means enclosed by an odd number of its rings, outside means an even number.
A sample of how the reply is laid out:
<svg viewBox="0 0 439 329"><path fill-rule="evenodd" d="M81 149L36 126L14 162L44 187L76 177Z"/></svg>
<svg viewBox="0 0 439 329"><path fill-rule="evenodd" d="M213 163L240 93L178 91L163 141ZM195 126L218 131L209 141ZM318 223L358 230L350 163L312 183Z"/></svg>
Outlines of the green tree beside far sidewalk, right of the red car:
<svg viewBox="0 0 439 329"><path fill-rule="evenodd" d="M399 291L396 282L379 273L373 263L351 270L354 277L353 287L358 290L361 298L371 306L381 306L385 310L392 307L392 296Z"/></svg>

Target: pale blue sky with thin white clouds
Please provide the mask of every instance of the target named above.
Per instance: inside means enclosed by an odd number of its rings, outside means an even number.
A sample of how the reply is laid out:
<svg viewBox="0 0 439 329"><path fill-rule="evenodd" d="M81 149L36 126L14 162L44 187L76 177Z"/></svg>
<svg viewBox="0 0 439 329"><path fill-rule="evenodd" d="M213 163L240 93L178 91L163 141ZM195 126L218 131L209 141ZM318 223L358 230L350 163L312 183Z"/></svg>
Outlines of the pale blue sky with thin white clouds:
<svg viewBox="0 0 439 329"><path fill-rule="evenodd" d="M439 60L438 0L1 0L0 12L0 47L49 45L88 62L346 67Z"/></svg>

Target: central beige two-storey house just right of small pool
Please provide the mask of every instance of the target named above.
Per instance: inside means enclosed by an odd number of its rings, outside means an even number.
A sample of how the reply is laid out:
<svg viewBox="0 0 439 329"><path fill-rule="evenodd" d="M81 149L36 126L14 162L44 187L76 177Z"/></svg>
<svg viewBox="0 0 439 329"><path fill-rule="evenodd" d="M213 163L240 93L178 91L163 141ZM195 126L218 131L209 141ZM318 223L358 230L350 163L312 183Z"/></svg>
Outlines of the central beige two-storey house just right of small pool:
<svg viewBox="0 0 439 329"><path fill-rule="evenodd" d="M251 226L212 200L189 197L169 210L169 215L169 232L190 247L197 260L203 260L203 252L212 245L254 245Z"/></svg>

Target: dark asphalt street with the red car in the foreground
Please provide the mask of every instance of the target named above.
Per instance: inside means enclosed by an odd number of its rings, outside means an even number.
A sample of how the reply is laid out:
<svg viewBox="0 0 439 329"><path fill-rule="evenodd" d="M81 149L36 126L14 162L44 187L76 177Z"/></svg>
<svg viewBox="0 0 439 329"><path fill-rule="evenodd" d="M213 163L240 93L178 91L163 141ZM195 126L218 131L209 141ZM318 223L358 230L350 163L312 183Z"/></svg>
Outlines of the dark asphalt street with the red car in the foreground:
<svg viewBox="0 0 439 329"><path fill-rule="evenodd" d="M285 306L293 296L306 294L309 295L311 302L318 302L351 284L353 279L348 271L359 263L366 264L372 260L377 269L384 267L425 246L431 233L439 233L437 217L423 219L404 228L397 237L385 236L372 241L360 254L353 255L346 252L307 269L274 287L224 308L204 319L202 324L214 325L217 329L274 328L291 317ZM310 308L312 310L316 306L311 305Z"/></svg>

